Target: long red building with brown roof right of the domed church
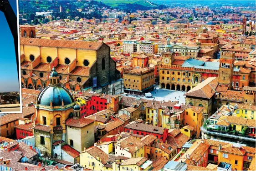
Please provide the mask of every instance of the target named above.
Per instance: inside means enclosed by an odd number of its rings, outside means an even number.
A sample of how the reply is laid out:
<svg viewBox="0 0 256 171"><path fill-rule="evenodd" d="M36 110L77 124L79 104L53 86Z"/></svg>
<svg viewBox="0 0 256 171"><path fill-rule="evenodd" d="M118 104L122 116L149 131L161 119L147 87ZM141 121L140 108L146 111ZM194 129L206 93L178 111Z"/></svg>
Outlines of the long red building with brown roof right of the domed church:
<svg viewBox="0 0 256 171"><path fill-rule="evenodd" d="M130 124L124 126L124 131L125 132L133 131L133 134L138 134L142 136L147 136L149 134L152 134L156 136L160 141L163 141L163 142L165 142L168 136L168 129L166 128L138 123L137 121L133 121Z"/></svg>

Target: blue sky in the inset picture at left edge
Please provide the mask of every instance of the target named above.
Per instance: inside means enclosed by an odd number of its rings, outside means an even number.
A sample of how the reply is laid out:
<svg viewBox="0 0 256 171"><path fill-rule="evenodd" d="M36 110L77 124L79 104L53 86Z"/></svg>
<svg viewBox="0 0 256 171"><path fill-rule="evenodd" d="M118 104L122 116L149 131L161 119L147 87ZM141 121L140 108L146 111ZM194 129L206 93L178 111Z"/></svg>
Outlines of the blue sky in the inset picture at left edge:
<svg viewBox="0 0 256 171"><path fill-rule="evenodd" d="M9 2L17 15L16 0ZM5 15L0 11L0 92L7 91L19 91L19 80L14 40Z"/></svg>

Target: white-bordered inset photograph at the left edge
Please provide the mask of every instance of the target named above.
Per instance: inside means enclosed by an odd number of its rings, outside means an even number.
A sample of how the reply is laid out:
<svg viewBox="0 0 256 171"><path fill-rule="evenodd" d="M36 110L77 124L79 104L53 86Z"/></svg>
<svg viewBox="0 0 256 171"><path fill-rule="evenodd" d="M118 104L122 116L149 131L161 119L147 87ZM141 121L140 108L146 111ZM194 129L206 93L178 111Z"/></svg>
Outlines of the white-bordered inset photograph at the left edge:
<svg viewBox="0 0 256 171"><path fill-rule="evenodd" d="M21 112L17 1L0 1L0 113Z"/></svg>

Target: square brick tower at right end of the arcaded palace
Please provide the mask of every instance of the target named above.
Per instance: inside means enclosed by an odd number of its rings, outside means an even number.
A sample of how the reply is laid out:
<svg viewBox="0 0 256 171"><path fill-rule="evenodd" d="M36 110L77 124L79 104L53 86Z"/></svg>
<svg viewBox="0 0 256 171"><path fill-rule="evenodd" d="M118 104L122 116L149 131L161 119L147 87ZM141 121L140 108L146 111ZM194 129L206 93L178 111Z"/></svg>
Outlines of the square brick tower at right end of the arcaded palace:
<svg viewBox="0 0 256 171"><path fill-rule="evenodd" d="M235 52L220 53L219 83L229 85L229 90L232 88L234 62Z"/></svg>

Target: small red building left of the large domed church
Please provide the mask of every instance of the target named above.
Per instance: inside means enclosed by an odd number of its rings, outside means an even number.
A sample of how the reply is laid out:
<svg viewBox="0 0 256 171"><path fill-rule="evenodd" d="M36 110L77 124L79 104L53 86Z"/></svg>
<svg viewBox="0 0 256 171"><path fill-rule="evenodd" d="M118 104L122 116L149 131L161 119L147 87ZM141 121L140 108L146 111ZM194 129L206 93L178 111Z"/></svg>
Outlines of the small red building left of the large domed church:
<svg viewBox="0 0 256 171"><path fill-rule="evenodd" d="M29 119L27 119L27 120L29 120ZM21 140L23 138L26 138L27 136L33 136L32 122L17 125L17 126L15 126L15 128L16 128L17 140Z"/></svg>

